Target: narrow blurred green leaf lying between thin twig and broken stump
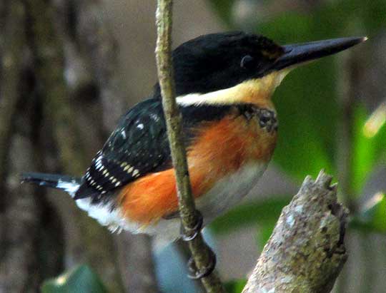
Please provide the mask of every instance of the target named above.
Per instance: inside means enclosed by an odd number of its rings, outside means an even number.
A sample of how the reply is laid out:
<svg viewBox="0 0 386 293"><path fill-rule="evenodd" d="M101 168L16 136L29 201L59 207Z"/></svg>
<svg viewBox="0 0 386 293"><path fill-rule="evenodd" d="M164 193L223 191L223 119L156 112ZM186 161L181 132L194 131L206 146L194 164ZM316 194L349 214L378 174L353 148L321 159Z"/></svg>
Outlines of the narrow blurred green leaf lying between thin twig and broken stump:
<svg viewBox="0 0 386 293"><path fill-rule="evenodd" d="M227 214L217 217L209 229L217 234L229 232L243 225L276 222L282 208L289 203L291 197L269 198L259 202L239 205Z"/></svg>

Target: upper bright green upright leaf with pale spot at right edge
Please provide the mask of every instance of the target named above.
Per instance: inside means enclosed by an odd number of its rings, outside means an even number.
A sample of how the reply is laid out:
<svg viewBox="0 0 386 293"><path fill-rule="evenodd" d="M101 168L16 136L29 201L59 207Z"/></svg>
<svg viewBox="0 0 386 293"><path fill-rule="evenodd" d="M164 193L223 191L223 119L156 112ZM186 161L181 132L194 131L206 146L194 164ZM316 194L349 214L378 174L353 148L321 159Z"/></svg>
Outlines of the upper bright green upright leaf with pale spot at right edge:
<svg viewBox="0 0 386 293"><path fill-rule="evenodd" d="M370 118L365 107L359 105L355 108L352 188L356 194L360 194L368 175L386 154L385 119L386 104L382 104Z"/></svg>

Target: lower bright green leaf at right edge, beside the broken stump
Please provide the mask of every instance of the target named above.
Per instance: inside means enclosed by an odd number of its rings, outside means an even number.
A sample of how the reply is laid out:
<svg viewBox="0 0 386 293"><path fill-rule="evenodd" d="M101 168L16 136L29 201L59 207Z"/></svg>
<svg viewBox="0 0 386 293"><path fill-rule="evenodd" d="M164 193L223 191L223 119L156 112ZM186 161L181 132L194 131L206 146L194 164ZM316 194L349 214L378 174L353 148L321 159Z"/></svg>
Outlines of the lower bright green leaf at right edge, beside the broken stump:
<svg viewBox="0 0 386 293"><path fill-rule="evenodd" d="M386 233L385 193L377 193L365 206L365 210L352 219L350 227L364 232Z"/></svg>

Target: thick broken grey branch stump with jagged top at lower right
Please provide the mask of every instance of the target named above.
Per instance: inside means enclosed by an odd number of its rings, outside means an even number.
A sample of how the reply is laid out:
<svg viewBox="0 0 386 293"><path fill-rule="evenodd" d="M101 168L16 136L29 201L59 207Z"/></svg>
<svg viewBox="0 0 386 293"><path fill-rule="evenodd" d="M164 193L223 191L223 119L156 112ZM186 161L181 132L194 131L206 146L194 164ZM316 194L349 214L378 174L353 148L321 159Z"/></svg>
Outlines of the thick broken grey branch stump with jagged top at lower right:
<svg viewBox="0 0 386 293"><path fill-rule="evenodd" d="M327 293L347 259L347 210L323 171L282 210L243 293Z"/></svg>

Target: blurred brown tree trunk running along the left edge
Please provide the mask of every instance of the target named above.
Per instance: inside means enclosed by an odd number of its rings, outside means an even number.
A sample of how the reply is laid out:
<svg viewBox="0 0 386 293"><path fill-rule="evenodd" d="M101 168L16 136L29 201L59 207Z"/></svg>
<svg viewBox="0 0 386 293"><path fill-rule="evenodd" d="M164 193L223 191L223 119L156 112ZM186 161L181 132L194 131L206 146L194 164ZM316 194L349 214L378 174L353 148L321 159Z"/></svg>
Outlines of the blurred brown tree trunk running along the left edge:
<svg viewBox="0 0 386 293"><path fill-rule="evenodd" d="M31 165L31 141L16 138L16 108L20 98L25 51L25 9L21 1L2 1L0 6L0 292L37 289L36 232L39 207L31 187L12 186L11 175ZM20 25L21 24L21 25ZM15 145L16 144L16 145ZM15 152L26 158L15 164ZM8 180L9 179L9 180ZM24 195L17 197L18 193Z"/></svg>

